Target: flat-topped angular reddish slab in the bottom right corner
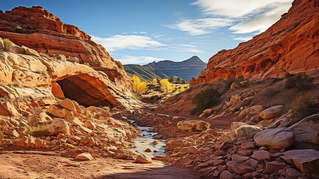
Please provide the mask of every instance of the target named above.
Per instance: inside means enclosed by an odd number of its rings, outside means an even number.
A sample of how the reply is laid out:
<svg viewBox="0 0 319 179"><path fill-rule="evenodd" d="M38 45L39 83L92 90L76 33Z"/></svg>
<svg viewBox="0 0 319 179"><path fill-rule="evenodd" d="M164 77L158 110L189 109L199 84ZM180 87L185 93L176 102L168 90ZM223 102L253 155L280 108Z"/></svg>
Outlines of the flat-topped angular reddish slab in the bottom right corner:
<svg viewBox="0 0 319 179"><path fill-rule="evenodd" d="M319 151L315 149L297 149L282 152L279 156L290 165L295 165L301 172L319 174Z"/></svg>

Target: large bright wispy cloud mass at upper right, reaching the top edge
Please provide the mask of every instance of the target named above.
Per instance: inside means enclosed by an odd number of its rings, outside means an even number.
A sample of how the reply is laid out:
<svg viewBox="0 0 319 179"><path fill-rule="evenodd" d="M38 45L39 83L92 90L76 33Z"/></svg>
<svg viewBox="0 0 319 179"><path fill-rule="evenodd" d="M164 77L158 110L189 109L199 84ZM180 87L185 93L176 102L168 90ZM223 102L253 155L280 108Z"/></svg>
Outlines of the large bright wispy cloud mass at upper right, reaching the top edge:
<svg viewBox="0 0 319 179"><path fill-rule="evenodd" d="M229 27L233 33L261 33L287 12L293 0L197 0L207 18L182 19L171 29L188 32L192 36L210 34L217 28Z"/></svg>

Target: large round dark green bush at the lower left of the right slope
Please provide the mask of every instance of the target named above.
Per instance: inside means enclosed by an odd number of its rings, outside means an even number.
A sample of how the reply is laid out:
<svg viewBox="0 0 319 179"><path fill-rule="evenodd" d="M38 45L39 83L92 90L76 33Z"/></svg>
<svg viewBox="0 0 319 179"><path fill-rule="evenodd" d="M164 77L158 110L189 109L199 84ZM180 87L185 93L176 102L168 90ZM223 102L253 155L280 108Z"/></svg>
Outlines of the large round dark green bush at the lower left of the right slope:
<svg viewBox="0 0 319 179"><path fill-rule="evenodd" d="M198 111L211 108L219 104L221 94L214 88L208 88L194 95L192 101Z"/></svg>

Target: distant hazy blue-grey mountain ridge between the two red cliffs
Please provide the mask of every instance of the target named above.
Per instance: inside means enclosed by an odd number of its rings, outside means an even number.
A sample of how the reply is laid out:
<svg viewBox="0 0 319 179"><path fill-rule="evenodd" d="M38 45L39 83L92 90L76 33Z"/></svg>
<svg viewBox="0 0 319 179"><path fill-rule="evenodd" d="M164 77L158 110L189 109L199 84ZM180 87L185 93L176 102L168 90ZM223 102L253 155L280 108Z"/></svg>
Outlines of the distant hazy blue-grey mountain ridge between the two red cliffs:
<svg viewBox="0 0 319 179"><path fill-rule="evenodd" d="M125 71L129 75L137 75L142 79L152 81L154 78L165 79L171 76L179 76L181 79L190 82L206 68L206 63L194 56L182 62L169 60L152 62L147 65L124 65Z"/></svg>

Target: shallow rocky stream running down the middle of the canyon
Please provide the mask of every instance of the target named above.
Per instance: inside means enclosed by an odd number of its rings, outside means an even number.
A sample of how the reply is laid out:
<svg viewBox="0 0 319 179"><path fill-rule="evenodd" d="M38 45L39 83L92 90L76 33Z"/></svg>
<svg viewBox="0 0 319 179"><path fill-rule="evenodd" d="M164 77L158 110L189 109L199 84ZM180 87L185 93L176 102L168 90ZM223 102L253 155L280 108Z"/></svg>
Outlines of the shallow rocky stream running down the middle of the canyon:
<svg viewBox="0 0 319 179"><path fill-rule="evenodd" d="M142 154L148 155L151 158L154 156L165 156L165 145L166 140L164 139L153 139L153 136L156 136L157 133L155 132L149 132L149 130L153 129L152 127L142 127L135 123L134 120L127 119L131 124L134 124L137 126L141 132L142 136L136 138L134 140L134 146L135 148L132 148L133 150L139 151ZM157 141L157 144L153 144L153 141ZM151 152L146 152L145 149L151 149Z"/></svg>

